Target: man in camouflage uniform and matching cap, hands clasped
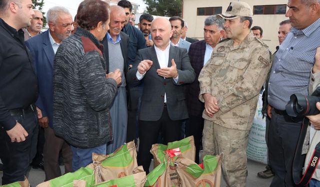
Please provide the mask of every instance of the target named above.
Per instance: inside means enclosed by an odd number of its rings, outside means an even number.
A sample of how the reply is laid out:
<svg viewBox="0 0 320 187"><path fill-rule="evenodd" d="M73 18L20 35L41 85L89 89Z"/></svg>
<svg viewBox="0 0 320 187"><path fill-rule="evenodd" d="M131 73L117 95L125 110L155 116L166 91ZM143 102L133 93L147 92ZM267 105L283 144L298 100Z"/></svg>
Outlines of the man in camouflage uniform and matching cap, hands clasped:
<svg viewBox="0 0 320 187"><path fill-rule="evenodd" d="M229 39L216 45L198 79L205 108L203 155L223 153L228 187L245 187L248 135L271 54L250 31L252 10L247 3L231 2L219 16L225 19Z"/></svg>

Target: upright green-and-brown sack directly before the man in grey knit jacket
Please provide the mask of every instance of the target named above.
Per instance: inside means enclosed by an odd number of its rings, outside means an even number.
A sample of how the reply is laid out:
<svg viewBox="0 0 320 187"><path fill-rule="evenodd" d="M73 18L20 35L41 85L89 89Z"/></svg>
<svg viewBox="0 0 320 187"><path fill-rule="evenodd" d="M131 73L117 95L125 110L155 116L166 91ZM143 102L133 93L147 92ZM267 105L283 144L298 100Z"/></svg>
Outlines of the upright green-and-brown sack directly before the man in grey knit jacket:
<svg viewBox="0 0 320 187"><path fill-rule="evenodd" d="M95 185L133 174L137 168L134 141L116 149L110 155L92 154L93 163L87 167L94 170Z"/></svg>

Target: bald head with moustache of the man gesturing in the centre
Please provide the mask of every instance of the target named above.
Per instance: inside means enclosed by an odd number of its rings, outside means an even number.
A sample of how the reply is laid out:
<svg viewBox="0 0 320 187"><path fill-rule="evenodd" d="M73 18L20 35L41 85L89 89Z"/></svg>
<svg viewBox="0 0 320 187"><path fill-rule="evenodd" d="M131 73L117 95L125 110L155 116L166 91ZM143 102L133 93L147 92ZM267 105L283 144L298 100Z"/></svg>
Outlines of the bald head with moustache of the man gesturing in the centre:
<svg viewBox="0 0 320 187"><path fill-rule="evenodd" d="M164 17L157 17L151 22L152 41L156 47L161 50L169 45L170 37L172 36L171 24Z"/></svg>

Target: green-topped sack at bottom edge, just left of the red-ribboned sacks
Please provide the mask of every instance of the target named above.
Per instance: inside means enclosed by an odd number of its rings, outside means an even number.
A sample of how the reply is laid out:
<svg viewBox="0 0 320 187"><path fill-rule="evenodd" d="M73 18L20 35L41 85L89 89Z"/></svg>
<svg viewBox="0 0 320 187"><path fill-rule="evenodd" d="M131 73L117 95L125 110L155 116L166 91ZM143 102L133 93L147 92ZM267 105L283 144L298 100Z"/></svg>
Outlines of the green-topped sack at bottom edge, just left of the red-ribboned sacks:
<svg viewBox="0 0 320 187"><path fill-rule="evenodd" d="M130 176L112 179L94 187L143 187L146 181L145 172L139 172Z"/></svg>

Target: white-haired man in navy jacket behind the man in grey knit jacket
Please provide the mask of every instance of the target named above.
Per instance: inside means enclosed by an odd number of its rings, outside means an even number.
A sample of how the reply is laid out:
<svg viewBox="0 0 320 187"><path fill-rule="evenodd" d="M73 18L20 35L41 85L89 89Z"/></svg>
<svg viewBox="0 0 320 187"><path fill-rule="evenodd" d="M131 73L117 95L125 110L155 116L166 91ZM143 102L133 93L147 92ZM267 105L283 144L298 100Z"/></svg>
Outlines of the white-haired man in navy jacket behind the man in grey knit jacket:
<svg viewBox="0 0 320 187"><path fill-rule="evenodd" d="M32 53L39 83L39 97L36 106L41 110L39 125L44 129L43 162L45 180L61 176L58 164L59 152L62 151L65 173L72 169L72 152L70 146L54 135L52 129L52 72L54 54L63 39L70 36L73 30L72 16L61 6L54 6L47 11L46 20L49 29L26 41Z"/></svg>

